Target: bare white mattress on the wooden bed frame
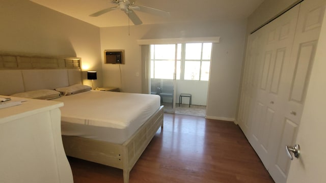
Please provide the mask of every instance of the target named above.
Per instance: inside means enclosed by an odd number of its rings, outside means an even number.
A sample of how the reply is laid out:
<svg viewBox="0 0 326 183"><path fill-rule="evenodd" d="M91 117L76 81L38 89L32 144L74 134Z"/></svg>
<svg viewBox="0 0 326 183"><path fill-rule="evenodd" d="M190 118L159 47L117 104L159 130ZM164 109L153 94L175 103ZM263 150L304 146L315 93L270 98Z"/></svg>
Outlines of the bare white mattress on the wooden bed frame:
<svg viewBox="0 0 326 183"><path fill-rule="evenodd" d="M61 107L62 135L122 144L160 106L157 95L91 90L56 101Z"/></svg>

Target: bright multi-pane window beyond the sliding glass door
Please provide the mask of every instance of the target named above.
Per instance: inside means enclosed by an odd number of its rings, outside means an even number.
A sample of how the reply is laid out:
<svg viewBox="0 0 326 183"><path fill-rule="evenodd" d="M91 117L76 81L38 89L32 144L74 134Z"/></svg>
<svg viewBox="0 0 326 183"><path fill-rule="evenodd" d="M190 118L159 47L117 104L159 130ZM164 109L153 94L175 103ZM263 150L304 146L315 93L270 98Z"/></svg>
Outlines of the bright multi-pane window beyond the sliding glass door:
<svg viewBox="0 0 326 183"><path fill-rule="evenodd" d="M151 45L151 78L208 81L212 43ZM175 62L176 60L176 62Z"/></svg>

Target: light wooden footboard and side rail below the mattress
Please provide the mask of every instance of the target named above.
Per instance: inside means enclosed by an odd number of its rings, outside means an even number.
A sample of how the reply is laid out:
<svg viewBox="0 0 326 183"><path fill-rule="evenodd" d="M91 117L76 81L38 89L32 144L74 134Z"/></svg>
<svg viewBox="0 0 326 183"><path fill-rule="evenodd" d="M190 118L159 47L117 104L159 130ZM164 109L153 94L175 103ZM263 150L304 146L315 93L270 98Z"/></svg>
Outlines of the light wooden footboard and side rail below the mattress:
<svg viewBox="0 0 326 183"><path fill-rule="evenodd" d="M62 136L67 156L119 168L123 182L129 182L129 172L154 137L163 127L164 106L160 108L123 144L93 140L83 137Z"/></svg>

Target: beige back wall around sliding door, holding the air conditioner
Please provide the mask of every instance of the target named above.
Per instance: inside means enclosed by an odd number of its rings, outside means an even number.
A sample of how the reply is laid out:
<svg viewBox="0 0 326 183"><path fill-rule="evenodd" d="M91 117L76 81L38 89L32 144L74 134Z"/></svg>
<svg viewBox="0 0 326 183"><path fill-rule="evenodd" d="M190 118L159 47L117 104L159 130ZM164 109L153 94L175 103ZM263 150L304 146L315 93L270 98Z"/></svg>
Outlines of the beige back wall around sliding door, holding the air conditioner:
<svg viewBox="0 0 326 183"><path fill-rule="evenodd" d="M246 23L246 20L239 20L130 26L130 36L127 26L101 28L101 51L124 49L126 57L124 65L108 65L103 64L102 55L103 85L118 86L123 92L142 92L141 46L137 44L139 39L221 37L220 43L213 45L206 115L209 118L233 120Z"/></svg>

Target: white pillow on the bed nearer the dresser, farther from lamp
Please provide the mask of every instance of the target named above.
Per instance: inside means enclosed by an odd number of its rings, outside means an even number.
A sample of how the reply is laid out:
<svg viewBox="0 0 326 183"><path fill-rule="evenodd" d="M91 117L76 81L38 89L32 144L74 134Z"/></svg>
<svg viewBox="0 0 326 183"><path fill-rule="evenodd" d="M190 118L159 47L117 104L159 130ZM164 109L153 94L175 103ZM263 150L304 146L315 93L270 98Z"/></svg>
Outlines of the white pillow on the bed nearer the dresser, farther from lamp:
<svg viewBox="0 0 326 183"><path fill-rule="evenodd" d="M39 90L33 90L33 91L29 91L29 92L13 94L11 96L21 97L21 98L30 98L30 99L51 100L51 99L59 98L61 96L61 94L60 94L60 92L57 92L56 90L52 90L52 89L39 89Z"/></svg>

